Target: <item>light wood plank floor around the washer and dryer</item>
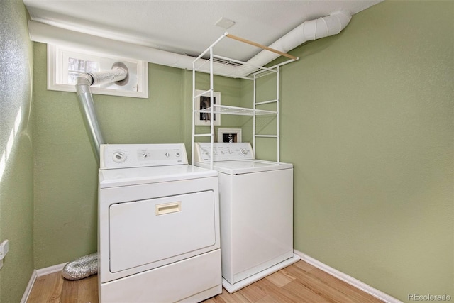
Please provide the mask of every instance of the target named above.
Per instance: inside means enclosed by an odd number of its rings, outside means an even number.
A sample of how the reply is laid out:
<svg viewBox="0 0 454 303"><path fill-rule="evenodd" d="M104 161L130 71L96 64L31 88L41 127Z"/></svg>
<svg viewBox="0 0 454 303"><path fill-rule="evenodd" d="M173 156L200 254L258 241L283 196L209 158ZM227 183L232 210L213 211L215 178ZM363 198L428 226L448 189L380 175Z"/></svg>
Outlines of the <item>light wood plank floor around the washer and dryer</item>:
<svg viewBox="0 0 454 303"><path fill-rule="evenodd" d="M98 303L97 276L68 281L61 272L38 277L28 303ZM298 261L233 294L222 294L204 303L381 302L314 266ZM128 303L128 302L125 302Z"/></svg>

